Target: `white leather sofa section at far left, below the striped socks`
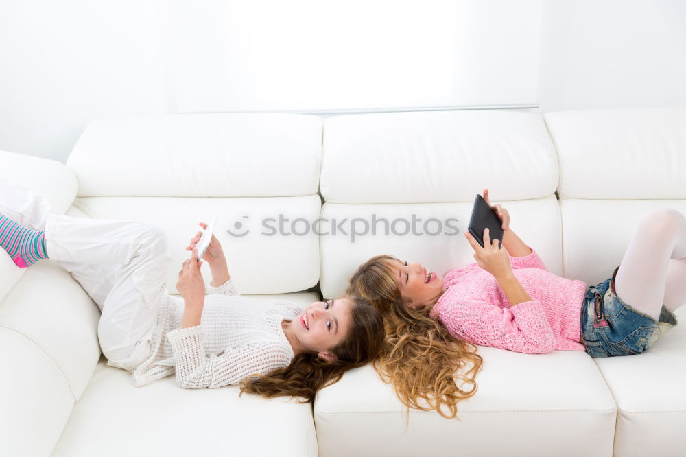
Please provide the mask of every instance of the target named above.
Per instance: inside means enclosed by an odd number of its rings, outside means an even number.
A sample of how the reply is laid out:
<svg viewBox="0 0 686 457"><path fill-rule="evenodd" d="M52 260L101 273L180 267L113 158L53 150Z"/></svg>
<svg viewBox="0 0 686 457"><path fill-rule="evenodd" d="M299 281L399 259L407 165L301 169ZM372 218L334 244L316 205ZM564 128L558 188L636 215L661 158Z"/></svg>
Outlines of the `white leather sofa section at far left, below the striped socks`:
<svg viewBox="0 0 686 457"><path fill-rule="evenodd" d="M0 454L50 454L97 363L99 315L51 260L25 268L0 300Z"/></svg>

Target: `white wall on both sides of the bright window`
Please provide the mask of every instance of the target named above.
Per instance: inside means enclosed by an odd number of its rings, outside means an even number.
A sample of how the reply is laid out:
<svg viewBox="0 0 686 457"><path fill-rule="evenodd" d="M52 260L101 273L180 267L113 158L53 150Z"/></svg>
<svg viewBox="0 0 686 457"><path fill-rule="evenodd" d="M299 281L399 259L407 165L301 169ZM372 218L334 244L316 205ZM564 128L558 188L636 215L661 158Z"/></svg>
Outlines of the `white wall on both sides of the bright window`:
<svg viewBox="0 0 686 457"><path fill-rule="evenodd" d="M0 150L65 161L90 119L174 113L165 0L0 0ZM686 2L545 0L539 112L686 106Z"/></svg>

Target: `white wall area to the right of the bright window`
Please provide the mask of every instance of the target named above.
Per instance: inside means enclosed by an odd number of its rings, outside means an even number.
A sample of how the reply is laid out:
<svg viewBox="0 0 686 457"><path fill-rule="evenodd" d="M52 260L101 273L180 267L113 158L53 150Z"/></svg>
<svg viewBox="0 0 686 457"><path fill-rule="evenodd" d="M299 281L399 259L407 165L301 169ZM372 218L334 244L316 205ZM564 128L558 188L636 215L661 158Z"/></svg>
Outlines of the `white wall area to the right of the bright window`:
<svg viewBox="0 0 686 457"><path fill-rule="evenodd" d="M539 111L686 106L686 1L545 0Z"/></svg>

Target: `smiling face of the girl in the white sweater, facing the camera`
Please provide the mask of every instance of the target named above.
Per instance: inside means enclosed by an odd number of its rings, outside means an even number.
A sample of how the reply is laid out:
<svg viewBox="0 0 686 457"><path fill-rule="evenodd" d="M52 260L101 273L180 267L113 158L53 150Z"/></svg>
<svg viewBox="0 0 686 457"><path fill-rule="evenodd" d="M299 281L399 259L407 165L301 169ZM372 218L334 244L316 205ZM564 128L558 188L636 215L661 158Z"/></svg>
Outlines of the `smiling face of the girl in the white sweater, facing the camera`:
<svg viewBox="0 0 686 457"><path fill-rule="evenodd" d="M292 320L289 328L304 351L318 353L325 360L334 360L331 349L348 334L353 306L349 298L317 301Z"/></svg>

